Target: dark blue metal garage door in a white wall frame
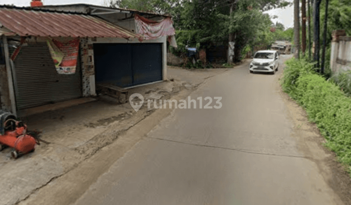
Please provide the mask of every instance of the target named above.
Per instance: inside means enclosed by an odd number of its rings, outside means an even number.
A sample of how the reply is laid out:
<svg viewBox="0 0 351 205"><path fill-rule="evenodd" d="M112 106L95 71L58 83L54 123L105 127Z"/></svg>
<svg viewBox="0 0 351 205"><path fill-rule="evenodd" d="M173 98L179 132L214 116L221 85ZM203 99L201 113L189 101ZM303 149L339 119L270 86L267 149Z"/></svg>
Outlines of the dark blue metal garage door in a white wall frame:
<svg viewBox="0 0 351 205"><path fill-rule="evenodd" d="M161 43L94 44L97 83L129 87L162 80Z"/></svg>

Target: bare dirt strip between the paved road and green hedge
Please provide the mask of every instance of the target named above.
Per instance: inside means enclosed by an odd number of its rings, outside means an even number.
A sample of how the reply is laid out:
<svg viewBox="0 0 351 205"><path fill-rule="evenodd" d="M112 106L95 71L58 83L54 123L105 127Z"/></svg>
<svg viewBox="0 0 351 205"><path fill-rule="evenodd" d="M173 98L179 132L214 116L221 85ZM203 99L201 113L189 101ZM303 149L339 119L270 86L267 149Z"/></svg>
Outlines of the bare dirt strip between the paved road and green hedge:
<svg viewBox="0 0 351 205"><path fill-rule="evenodd" d="M282 75L279 75L279 78L281 77ZM299 146L300 151L317 165L325 182L335 191L343 203L351 205L350 174L337 162L335 153L323 145L325 139L317 126L309 122L306 111L282 91L278 82L275 89L289 108L290 118L295 124L292 137L303 144L303 146Z"/></svg>

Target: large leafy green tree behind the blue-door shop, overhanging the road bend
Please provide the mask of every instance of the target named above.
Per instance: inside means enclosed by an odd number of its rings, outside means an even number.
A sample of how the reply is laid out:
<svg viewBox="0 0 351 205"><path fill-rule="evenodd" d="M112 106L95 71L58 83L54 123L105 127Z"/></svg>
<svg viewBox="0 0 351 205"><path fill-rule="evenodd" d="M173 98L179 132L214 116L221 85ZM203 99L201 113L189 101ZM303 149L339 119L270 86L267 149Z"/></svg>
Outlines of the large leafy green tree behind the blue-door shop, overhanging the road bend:
<svg viewBox="0 0 351 205"><path fill-rule="evenodd" d="M107 4L170 13L175 28L181 30L177 38L177 42L182 41L180 45L187 44L184 41L193 43L192 46L197 43L206 46L230 40L235 46L229 62L241 61L241 50L247 44L270 44L274 36L269 28L273 25L262 12L290 5L286 0L109 0Z"/></svg>

